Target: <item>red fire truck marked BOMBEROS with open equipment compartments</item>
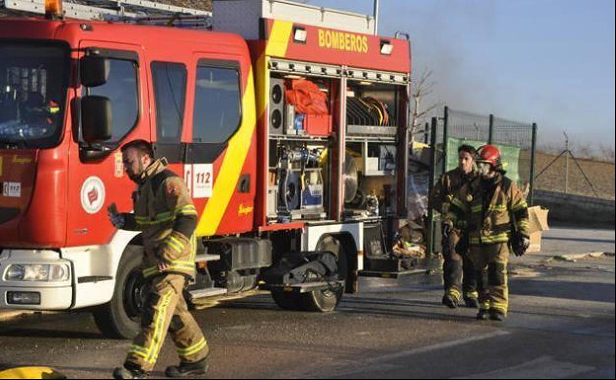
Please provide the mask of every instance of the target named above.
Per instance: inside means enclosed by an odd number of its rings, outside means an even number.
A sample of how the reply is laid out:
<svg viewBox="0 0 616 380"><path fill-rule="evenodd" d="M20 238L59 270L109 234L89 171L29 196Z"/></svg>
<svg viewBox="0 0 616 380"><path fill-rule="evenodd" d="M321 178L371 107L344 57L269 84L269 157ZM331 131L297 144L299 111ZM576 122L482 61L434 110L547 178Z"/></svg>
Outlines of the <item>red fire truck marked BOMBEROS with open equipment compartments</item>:
<svg viewBox="0 0 616 380"><path fill-rule="evenodd" d="M360 275L402 270L388 248L406 213L408 36L282 0L120 4L0 19L0 308L137 331L142 241L106 212L132 208L133 139L199 211L192 301L262 289L330 311Z"/></svg>

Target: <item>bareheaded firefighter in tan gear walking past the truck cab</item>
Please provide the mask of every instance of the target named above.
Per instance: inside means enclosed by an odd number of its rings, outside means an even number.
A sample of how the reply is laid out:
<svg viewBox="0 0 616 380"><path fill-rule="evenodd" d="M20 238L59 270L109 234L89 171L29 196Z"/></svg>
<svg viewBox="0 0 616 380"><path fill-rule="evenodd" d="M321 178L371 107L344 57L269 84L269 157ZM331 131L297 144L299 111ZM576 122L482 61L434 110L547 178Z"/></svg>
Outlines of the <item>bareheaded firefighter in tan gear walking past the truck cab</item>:
<svg viewBox="0 0 616 380"><path fill-rule="evenodd" d="M109 209L117 228L139 230L144 241L143 275L148 283L141 331L132 342L116 379L147 377L156 363L167 331L176 345L178 366L166 369L172 378L208 370L209 347L197 321L188 312L183 289L194 275L197 209L184 181L166 169L166 160L154 160L152 145L134 140L122 147L124 169L137 183L134 214Z"/></svg>

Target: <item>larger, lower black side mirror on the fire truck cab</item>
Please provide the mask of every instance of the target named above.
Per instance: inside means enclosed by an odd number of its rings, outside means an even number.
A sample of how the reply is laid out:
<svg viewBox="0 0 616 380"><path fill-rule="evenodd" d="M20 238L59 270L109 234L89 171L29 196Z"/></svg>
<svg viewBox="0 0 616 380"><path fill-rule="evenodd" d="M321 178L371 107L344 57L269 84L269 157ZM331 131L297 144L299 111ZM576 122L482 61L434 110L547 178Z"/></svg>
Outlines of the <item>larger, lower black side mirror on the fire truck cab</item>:
<svg viewBox="0 0 616 380"><path fill-rule="evenodd" d="M89 144L111 140L113 116L108 97L87 95L81 98L81 135Z"/></svg>

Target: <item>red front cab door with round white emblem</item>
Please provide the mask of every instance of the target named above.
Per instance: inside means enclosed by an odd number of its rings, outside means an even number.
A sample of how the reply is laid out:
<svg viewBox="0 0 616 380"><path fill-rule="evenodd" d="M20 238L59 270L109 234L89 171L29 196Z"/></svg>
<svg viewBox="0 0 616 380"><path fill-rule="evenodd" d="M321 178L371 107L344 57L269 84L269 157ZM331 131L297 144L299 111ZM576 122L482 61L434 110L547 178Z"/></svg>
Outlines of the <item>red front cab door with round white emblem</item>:
<svg viewBox="0 0 616 380"><path fill-rule="evenodd" d="M78 96L103 95L111 100L113 137L104 144L89 145L76 128L70 147L68 186L69 246L99 245L110 241L115 228L107 218L106 206L118 204L121 211L132 209L135 184L124 174L121 145L133 139L150 140L147 78L140 62L143 49L128 44L81 41L81 51L92 49L109 60L107 83L80 87ZM78 113L75 113L78 115ZM75 123L79 125L79 123ZM75 141L76 140L76 141Z"/></svg>

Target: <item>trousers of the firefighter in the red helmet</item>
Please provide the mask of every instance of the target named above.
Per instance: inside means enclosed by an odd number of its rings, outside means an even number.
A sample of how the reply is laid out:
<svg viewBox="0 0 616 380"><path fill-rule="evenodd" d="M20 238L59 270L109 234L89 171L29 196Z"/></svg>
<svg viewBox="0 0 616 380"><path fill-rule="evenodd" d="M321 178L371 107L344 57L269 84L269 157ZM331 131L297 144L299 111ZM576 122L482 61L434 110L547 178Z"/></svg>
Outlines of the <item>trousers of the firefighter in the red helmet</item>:
<svg viewBox="0 0 616 380"><path fill-rule="evenodd" d="M509 309L507 243L471 245L469 257L478 280L480 309L496 309L506 314ZM486 269L487 276L482 275Z"/></svg>

